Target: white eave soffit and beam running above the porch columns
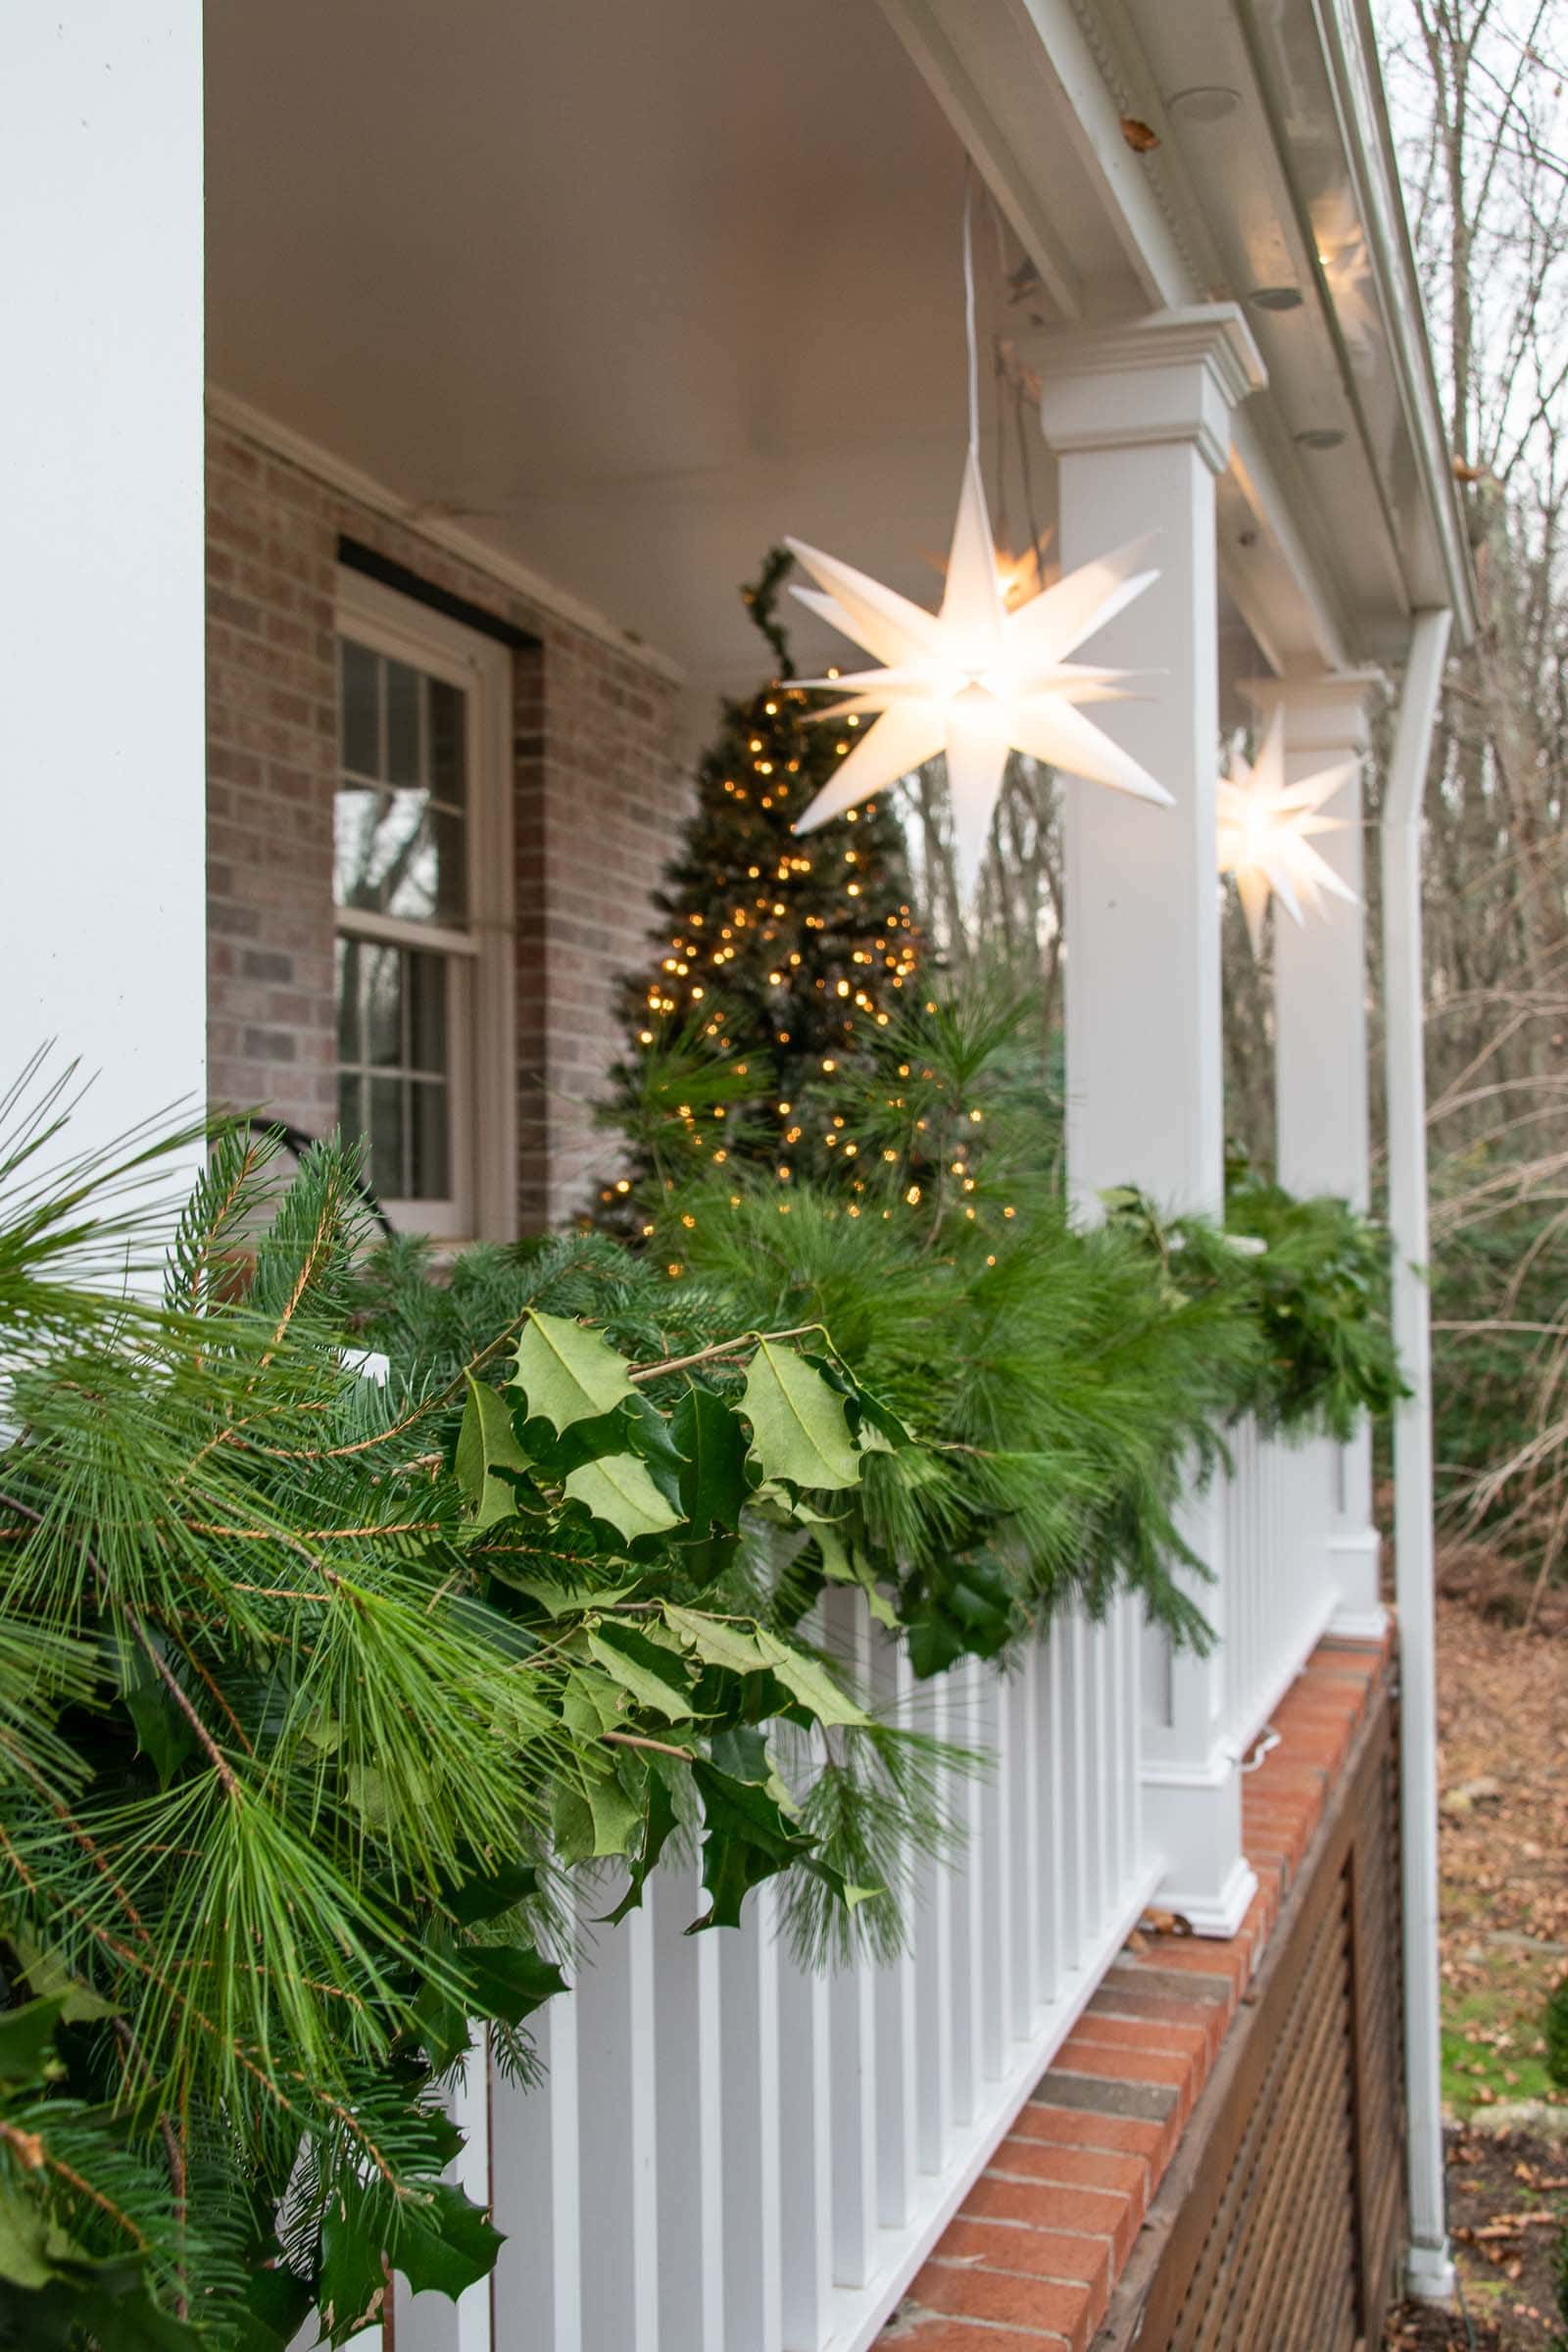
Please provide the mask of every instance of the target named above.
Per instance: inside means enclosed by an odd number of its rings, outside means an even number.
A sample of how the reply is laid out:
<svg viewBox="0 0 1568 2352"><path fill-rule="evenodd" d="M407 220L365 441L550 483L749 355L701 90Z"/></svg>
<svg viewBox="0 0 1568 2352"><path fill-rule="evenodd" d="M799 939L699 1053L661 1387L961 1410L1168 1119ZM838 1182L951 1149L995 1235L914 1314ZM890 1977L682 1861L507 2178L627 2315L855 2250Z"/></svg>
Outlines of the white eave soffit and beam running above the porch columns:
<svg viewBox="0 0 1568 2352"><path fill-rule="evenodd" d="M882 5L931 87L947 82L954 122L990 127L978 155L994 186L1074 146L1121 261L1079 268L1067 301L1041 263L1041 325L1246 303L1269 388L1237 416L1220 562L1269 659L1389 656L1413 607L1462 609L1458 508L1354 0L1333 0L1328 33L1312 0ZM1128 143L1124 120L1157 146ZM1025 233L1027 200L1009 209ZM1262 289L1300 303L1262 308Z"/></svg>

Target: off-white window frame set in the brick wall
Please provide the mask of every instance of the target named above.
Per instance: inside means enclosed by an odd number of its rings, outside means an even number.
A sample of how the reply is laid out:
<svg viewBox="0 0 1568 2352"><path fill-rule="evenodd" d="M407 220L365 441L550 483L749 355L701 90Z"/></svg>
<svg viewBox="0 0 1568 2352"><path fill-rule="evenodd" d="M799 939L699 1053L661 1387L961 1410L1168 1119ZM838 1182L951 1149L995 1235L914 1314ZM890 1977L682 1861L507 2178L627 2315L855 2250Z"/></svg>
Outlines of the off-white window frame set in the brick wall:
<svg viewBox="0 0 1568 2352"><path fill-rule="evenodd" d="M416 597L339 569L336 630L468 694L468 927L334 908L334 931L454 955L454 1207L383 1202L390 1221L435 1240L517 1240L517 908L512 889L512 656ZM465 1214L465 1204L473 1204ZM473 1230L458 1230L473 1228Z"/></svg>

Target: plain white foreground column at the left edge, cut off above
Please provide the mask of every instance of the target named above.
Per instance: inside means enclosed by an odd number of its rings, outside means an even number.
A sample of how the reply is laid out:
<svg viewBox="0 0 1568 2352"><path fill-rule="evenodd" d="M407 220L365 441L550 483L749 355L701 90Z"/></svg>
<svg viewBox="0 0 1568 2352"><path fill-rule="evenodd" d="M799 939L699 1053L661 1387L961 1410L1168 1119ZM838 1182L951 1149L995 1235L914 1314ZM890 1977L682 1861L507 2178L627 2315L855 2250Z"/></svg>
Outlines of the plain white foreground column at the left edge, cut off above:
<svg viewBox="0 0 1568 2352"><path fill-rule="evenodd" d="M205 1096L202 12L0 12L0 1087Z"/></svg>

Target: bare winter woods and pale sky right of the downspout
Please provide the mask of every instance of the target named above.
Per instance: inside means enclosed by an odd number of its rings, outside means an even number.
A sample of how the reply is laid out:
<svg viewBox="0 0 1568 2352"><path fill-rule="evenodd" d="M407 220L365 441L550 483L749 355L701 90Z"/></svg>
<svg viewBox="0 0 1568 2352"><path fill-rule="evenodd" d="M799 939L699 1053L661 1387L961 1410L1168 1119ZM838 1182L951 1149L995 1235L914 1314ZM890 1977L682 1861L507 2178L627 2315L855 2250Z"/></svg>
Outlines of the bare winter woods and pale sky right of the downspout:
<svg viewBox="0 0 1568 2352"><path fill-rule="evenodd" d="M1439 1435L1455 1524L1568 1534L1568 68L1554 0L1385 0L1479 630L1427 783ZM1373 795L1375 814L1375 795ZM1467 1411L1465 1399L1495 1399ZM1450 1442L1453 1442L1450 1437Z"/></svg>

